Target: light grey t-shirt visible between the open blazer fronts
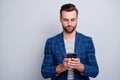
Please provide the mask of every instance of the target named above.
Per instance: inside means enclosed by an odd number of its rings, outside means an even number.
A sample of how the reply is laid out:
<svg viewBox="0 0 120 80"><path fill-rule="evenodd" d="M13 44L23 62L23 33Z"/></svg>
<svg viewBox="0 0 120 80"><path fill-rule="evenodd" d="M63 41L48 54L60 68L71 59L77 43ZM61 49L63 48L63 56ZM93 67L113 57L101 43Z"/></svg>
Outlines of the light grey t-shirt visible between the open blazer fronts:
<svg viewBox="0 0 120 80"><path fill-rule="evenodd" d="M66 53L74 53L75 37L70 40L64 39L64 42L65 42ZM74 69L69 68L67 79L74 80Z"/></svg>

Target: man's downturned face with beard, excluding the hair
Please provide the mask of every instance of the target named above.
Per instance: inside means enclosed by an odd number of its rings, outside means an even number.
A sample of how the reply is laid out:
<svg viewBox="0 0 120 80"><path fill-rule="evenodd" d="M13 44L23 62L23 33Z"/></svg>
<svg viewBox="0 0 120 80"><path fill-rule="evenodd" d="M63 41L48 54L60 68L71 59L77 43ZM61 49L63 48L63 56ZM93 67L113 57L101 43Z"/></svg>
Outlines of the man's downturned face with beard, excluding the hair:
<svg viewBox="0 0 120 80"><path fill-rule="evenodd" d="M72 33L75 31L77 26L77 19L77 13L75 10L70 12L62 11L60 21L62 23L63 31L66 33Z"/></svg>

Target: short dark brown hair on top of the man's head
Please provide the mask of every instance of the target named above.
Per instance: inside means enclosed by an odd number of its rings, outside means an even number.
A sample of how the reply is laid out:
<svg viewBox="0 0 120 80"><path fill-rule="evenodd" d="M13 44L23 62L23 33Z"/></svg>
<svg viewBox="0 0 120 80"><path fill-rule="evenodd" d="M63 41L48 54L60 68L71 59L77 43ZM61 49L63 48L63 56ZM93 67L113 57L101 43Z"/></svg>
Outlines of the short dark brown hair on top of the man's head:
<svg viewBox="0 0 120 80"><path fill-rule="evenodd" d="M70 12L70 11L73 11L73 10L75 10L77 15L78 15L78 10L77 10L77 8L74 4L71 4L71 3L64 4L64 5L61 6L60 16L62 17L62 11Z"/></svg>

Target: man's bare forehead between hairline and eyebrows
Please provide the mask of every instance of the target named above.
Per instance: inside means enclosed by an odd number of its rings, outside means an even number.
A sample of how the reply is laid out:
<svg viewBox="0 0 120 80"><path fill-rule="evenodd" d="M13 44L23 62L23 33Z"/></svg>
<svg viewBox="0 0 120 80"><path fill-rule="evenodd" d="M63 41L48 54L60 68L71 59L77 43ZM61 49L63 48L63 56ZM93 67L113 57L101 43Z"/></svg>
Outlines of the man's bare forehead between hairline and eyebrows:
<svg viewBox="0 0 120 80"><path fill-rule="evenodd" d="M62 18L76 18L77 13L75 10L73 11L62 11Z"/></svg>

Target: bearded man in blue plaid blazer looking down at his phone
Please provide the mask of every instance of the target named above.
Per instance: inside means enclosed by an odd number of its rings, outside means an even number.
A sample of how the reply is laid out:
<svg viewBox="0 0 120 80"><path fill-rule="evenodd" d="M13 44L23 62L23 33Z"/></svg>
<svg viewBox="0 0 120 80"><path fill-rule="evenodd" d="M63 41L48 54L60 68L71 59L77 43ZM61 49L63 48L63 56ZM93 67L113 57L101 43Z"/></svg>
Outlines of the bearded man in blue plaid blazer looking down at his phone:
<svg viewBox="0 0 120 80"><path fill-rule="evenodd" d="M62 33L47 40L41 73L52 80L89 80L98 75L98 65L91 37L76 31L78 10L64 4L60 10ZM76 54L67 57L67 54Z"/></svg>

